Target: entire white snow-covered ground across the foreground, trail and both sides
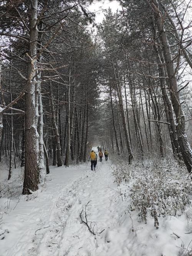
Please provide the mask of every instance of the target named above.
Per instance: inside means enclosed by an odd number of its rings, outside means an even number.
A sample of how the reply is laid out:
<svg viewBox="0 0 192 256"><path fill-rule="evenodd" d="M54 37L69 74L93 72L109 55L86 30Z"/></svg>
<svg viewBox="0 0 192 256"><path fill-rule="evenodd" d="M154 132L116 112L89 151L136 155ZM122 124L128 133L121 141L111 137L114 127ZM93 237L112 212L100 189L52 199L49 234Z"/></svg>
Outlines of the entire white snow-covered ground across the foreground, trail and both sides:
<svg viewBox="0 0 192 256"><path fill-rule="evenodd" d="M0 236L0 256L189 255L192 211L188 210L188 222L185 214L160 218L159 229L153 219L144 224L134 212L130 218L110 167L110 160L98 163L96 171L89 165L52 167L47 185L38 192L19 196L20 186L12 198L1 198L0 231L9 233ZM88 224L95 235L79 218L88 202Z"/></svg>

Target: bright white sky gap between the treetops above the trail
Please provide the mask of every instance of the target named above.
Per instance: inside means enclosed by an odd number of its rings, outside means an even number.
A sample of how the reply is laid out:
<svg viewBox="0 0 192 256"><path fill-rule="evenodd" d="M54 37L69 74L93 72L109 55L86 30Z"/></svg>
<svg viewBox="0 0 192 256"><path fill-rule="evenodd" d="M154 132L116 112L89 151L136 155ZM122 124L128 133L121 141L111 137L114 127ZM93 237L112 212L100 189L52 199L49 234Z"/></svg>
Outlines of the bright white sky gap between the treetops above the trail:
<svg viewBox="0 0 192 256"><path fill-rule="evenodd" d="M95 22L101 23L104 18L104 9L111 8L112 12L116 12L120 8L119 2L114 0L109 2L109 0L103 0L101 2L92 3L89 5L88 10L90 12L96 12Z"/></svg>

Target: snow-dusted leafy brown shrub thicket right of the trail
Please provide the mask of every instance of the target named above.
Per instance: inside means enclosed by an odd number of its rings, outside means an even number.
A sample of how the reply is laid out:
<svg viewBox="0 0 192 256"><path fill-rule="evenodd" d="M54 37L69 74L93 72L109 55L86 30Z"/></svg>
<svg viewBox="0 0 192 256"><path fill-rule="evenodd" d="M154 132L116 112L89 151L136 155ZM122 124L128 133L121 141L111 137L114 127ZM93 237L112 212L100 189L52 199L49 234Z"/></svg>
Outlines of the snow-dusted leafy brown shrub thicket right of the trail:
<svg viewBox="0 0 192 256"><path fill-rule="evenodd" d="M160 216L178 216L190 204L190 176L174 161L137 162L130 166L124 165L123 169L118 163L113 174L118 185L123 181L129 182L126 193L121 191L124 199L129 202L129 211L136 210L140 220L145 223L147 216L151 215L156 228L159 227Z"/></svg>

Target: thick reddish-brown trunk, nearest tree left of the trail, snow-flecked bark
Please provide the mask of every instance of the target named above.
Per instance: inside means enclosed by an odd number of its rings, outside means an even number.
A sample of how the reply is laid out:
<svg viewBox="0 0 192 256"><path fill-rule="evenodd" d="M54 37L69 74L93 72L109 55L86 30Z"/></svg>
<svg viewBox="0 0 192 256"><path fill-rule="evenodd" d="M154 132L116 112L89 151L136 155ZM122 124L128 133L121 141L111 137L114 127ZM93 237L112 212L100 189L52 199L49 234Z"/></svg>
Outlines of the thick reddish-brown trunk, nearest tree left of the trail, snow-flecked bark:
<svg viewBox="0 0 192 256"><path fill-rule="evenodd" d="M25 90L26 112L25 112L25 178L23 183L23 194L31 194L38 190L38 160L39 160L39 135L36 124L35 85L37 69L37 8L38 0L31 0L30 13L30 43L28 81Z"/></svg>

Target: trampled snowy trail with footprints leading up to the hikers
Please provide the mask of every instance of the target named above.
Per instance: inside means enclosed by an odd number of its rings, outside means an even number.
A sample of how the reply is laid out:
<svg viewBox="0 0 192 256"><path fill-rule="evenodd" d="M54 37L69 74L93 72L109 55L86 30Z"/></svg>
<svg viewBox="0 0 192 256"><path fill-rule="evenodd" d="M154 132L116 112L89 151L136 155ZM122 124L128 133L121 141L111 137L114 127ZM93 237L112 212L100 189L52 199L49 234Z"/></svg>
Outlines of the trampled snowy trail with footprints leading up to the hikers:
<svg viewBox="0 0 192 256"><path fill-rule="evenodd" d="M115 211L117 193L113 180L110 161L103 161L98 163L96 171L87 170L83 178L64 188L49 219L43 223L50 228L38 232L28 255L124 255L122 249L119 251L119 247L110 244L110 236L114 236L111 229L119 219ZM95 236L79 218L87 203L88 224Z"/></svg>

